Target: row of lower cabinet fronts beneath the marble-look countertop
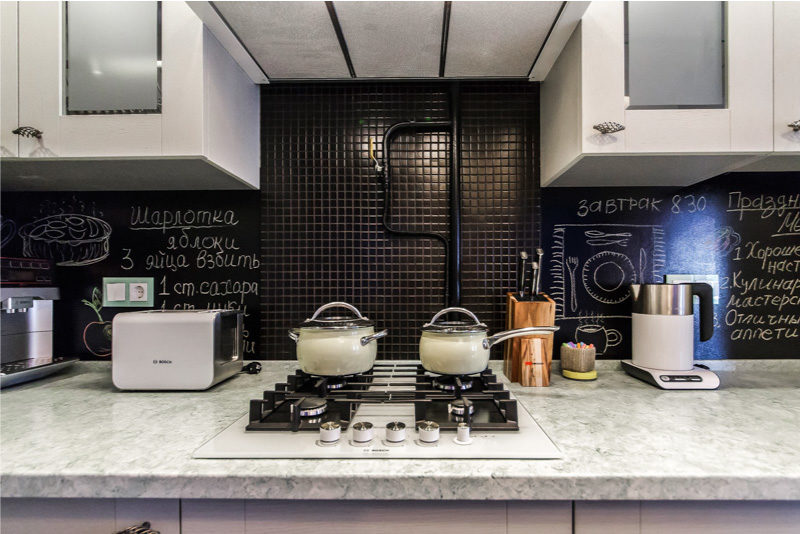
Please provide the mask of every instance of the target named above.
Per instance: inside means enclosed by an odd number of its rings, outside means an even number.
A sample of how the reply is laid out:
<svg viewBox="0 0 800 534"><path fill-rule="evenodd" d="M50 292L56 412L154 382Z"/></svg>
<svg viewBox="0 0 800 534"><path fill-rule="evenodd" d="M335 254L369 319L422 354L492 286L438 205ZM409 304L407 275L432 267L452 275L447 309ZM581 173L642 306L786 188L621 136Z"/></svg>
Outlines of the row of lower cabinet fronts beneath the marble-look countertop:
<svg viewBox="0 0 800 534"><path fill-rule="evenodd" d="M797 501L282 501L3 499L3 534L782 534Z"/></svg>

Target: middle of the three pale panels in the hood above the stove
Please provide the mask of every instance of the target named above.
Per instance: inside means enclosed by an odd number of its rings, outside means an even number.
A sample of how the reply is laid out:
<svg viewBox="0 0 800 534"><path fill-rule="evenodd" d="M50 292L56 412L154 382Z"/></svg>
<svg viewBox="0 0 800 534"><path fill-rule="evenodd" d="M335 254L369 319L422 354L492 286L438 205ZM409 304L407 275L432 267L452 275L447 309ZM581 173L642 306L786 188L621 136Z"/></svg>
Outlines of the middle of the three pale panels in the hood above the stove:
<svg viewBox="0 0 800 534"><path fill-rule="evenodd" d="M444 2L335 2L359 78L439 75Z"/></svg>

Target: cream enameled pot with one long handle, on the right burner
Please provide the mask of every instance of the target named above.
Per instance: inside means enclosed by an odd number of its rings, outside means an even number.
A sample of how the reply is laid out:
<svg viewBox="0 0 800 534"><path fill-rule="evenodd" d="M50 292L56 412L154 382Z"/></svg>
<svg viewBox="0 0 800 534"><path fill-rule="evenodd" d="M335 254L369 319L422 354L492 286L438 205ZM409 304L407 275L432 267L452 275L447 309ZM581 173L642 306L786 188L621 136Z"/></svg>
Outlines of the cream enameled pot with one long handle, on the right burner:
<svg viewBox="0 0 800 534"><path fill-rule="evenodd" d="M440 317L451 312L462 313L472 320L437 322ZM530 326L488 336L489 328L474 313L465 308L446 308L422 327L419 358L422 366L432 373L471 375L480 373L489 365L489 349L492 345L517 336L551 334L558 328Z"/></svg>

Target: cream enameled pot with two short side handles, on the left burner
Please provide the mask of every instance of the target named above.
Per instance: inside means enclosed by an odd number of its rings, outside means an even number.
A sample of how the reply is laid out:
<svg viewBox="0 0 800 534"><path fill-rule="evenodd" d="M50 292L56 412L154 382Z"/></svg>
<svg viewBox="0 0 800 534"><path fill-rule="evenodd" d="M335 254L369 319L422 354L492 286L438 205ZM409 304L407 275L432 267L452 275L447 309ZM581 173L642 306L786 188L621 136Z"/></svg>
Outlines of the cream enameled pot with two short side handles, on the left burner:
<svg viewBox="0 0 800 534"><path fill-rule="evenodd" d="M346 308L354 317L320 317L329 308ZM378 353L377 340L388 330L375 333L375 323L346 302L321 306L310 319L289 331L297 343L297 362L304 373L344 376L372 369Z"/></svg>

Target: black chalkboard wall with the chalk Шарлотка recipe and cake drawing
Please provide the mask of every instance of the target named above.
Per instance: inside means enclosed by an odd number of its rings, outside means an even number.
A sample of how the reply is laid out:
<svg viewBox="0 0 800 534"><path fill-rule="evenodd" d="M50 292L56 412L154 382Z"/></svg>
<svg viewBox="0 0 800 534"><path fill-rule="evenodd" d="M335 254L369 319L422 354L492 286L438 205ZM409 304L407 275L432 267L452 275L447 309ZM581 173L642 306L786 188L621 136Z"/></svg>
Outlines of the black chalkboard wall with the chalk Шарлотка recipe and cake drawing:
<svg viewBox="0 0 800 534"><path fill-rule="evenodd" d="M2 254L56 262L59 355L107 358L114 315L103 277L152 277L165 309L240 309L245 356L260 357L259 195L252 191L8 193Z"/></svg>

